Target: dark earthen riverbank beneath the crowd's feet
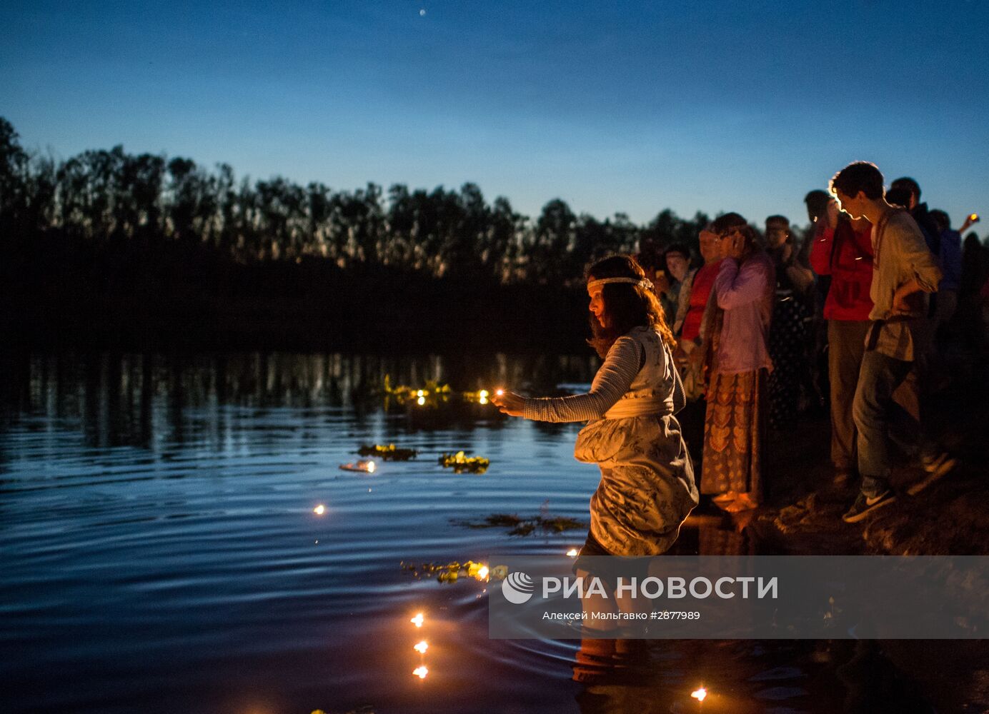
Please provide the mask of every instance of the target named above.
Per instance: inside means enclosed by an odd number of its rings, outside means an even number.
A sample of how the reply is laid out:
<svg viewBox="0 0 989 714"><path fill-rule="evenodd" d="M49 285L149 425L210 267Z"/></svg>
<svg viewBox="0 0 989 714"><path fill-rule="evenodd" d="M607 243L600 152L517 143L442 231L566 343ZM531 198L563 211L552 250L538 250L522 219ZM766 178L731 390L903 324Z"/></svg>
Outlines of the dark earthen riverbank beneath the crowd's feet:
<svg viewBox="0 0 989 714"><path fill-rule="evenodd" d="M788 554L989 554L986 360L972 354L952 363L955 378L930 401L927 420L930 431L958 458L951 472L911 496L908 490L924 474L916 465L902 463L893 472L897 501L859 523L845 523L841 516L858 484L832 482L830 426L827 416L820 415L772 442L769 502L756 514L735 516L736 527L750 529L767 550ZM863 641L854 649L839 649L843 658L852 658L838 670L855 698L844 711L890 711L885 708L890 694L896 692L902 700L911 688L922 692L935 711L987 711L989 647L984 640ZM932 711L921 699L913 708L894 710Z"/></svg>

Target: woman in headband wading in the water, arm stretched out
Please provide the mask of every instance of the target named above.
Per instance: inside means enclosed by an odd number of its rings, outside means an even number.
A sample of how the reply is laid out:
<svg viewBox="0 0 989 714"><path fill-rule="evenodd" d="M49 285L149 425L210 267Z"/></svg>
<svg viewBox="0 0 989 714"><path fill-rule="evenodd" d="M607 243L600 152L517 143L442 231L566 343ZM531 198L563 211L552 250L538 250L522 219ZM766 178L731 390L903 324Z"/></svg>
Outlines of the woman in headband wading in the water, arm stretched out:
<svg viewBox="0 0 989 714"><path fill-rule="evenodd" d="M601 480L590 499L578 568L585 556L665 552L698 502L674 417L684 403L674 336L652 284L631 256L611 256L588 270L587 293L588 342L604 359L590 391L546 399L505 392L492 399L513 417L587 422L574 455L596 463Z"/></svg>

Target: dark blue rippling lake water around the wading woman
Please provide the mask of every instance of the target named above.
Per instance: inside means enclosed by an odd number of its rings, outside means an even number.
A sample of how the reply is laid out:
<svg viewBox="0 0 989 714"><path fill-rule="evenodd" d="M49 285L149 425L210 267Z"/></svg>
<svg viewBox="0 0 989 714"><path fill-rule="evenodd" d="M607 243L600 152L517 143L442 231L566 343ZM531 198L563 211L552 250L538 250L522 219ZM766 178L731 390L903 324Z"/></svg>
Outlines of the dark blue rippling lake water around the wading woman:
<svg viewBox="0 0 989 714"><path fill-rule="evenodd" d="M619 645L584 654L635 667L578 683L580 642L489 640L484 582L403 567L567 558L584 530L519 536L465 521L585 522L598 473L572 457L579 425L480 405L456 419L386 412L375 396L385 375L548 389L585 384L594 367L586 357L11 358L3 710L697 712L690 692L704 684L709 713L840 711L834 643ZM390 442L418 457L340 470L359 445ZM488 472L437 464L459 450L490 458ZM676 550L750 552L748 537L707 524L685 528ZM412 674L422 665L424 678Z"/></svg>

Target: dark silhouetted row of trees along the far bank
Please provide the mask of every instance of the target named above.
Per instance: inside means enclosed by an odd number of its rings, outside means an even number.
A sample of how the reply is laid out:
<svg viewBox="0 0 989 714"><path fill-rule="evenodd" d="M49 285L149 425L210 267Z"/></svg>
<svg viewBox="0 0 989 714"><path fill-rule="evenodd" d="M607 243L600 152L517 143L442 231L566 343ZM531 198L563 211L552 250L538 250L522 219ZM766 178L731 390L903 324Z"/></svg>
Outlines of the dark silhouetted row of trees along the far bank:
<svg viewBox="0 0 989 714"><path fill-rule="evenodd" d="M0 330L42 348L581 351L584 265L695 247L707 220L600 221L559 198L530 219L474 184L333 191L122 146L55 160L0 118Z"/></svg>

